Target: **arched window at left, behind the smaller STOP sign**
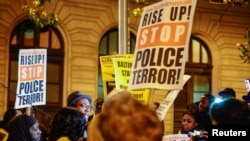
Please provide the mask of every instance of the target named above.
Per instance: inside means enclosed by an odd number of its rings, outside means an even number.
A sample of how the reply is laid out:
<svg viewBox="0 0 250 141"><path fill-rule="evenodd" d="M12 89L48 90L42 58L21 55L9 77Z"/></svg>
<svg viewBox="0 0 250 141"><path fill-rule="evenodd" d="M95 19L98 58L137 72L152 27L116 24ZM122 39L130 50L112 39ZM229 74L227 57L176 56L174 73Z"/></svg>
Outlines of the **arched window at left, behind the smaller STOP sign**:
<svg viewBox="0 0 250 141"><path fill-rule="evenodd" d="M30 20L20 22L11 33L9 57L8 107L13 107L16 97L19 49L47 49L46 106L44 110L57 111L62 106L64 43L57 28L38 28Z"/></svg>

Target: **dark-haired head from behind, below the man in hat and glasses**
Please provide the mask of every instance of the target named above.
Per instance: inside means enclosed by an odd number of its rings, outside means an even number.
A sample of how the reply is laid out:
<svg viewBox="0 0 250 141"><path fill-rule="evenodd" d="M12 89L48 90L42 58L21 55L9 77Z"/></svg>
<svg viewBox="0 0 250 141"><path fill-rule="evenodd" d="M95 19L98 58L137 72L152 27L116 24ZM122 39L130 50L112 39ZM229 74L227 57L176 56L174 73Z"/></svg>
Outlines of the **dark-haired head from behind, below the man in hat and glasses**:
<svg viewBox="0 0 250 141"><path fill-rule="evenodd" d="M63 107L54 116L49 141L68 138L70 141L83 141L85 129L84 114L74 107Z"/></svg>

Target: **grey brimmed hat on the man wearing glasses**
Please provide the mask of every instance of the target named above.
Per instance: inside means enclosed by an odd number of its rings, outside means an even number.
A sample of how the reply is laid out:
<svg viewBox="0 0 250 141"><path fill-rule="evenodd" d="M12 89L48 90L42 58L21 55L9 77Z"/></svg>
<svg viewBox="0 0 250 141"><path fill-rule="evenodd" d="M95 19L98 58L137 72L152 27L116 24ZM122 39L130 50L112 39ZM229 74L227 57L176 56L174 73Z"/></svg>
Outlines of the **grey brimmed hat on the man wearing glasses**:
<svg viewBox="0 0 250 141"><path fill-rule="evenodd" d="M80 91L75 91L68 96L67 106L75 106L76 103L81 99L87 99L89 103L92 102L92 98L89 95L83 94Z"/></svg>

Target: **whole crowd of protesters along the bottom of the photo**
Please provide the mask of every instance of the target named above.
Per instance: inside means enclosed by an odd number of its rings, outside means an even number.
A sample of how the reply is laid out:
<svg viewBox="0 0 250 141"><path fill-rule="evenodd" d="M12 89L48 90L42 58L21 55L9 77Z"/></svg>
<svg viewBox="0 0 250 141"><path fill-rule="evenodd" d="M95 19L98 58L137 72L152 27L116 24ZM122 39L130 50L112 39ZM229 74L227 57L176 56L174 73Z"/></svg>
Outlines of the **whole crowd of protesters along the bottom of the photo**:
<svg viewBox="0 0 250 141"><path fill-rule="evenodd" d="M182 116L180 133L193 137L195 131L206 133L212 125L249 124L250 93L237 99L232 88L218 93L203 94L200 100L187 105ZM36 119L36 108L30 115L25 110L8 109L0 129L8 133L6 141L161 141L162 121L151 108L134 99L126 90L114 90L106 99L93 102L88 94L72 92L67 106L58 110L47 129ZM4 139L2 139L4 140Z"/></svg>

